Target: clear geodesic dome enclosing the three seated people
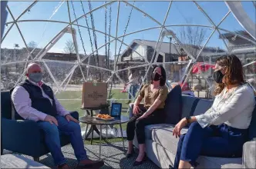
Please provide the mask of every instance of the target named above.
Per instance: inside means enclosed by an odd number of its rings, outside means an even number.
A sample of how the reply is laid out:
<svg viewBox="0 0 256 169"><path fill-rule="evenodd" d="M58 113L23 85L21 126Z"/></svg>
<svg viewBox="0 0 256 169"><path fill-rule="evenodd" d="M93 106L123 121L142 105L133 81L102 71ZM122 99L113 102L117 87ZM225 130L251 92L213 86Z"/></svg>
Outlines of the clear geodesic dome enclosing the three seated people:
<svg viewBox="0 0 256 169"><path fill-rule="evenodd" d="M188 90L211 98L214 61L224 54L241 59L254 85L255 7L255 2L8 2L1 87L9 90L22 81L33 61L42 65L44 82L63 104L80 103L84 81L106 81L109 98L125 101L120 91L127 71L136 70L142 85L152 65L161 64L169 86L185 80Z"/></svg>

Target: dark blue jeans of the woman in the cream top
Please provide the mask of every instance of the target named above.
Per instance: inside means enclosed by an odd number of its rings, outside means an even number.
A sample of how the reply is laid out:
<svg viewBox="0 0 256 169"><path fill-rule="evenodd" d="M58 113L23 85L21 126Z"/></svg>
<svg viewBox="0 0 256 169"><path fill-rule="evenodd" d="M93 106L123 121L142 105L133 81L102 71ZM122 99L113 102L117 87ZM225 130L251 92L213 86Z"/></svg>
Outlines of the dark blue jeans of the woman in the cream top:
<svg viewBox="0 0 256 169"><path fill-rule="evenodd" d="M179 167L180 160L189 161L197 167L197 157L241 157L243 144L248 140L247 129L237 129L221 124L201 128L194 122L187 134L180 136L174 168Z"/></svg>

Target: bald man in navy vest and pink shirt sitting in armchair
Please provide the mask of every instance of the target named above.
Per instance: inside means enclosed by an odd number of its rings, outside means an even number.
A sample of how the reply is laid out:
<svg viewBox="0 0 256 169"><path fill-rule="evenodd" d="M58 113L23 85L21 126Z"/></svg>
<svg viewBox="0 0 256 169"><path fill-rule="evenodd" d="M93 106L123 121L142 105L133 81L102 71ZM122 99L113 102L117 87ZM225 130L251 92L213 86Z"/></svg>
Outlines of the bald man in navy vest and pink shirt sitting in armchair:
<svg viewBox="0 0 256 169"><path fill-rule="evenodd" d="M52 88L42 82L42 68L32 63L27 68L27 79L12 92L12 102L18 114L27 120L37 121L45 134L45 144L58 168L69 168L62 154L59 131L68 134L79 167L103 166L103 161L91 161L83 145L79 121L69 114L55 98Z"/></svg>

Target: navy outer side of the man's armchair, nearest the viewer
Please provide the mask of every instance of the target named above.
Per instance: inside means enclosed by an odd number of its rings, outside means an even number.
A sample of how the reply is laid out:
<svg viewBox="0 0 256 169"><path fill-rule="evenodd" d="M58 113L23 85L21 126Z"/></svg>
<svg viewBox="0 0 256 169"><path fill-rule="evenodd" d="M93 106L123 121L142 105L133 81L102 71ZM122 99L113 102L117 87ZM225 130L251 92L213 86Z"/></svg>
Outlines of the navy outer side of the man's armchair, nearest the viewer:
<svg viewBox="0 0 256 169"><path fill-rule="evenodd" d="M10 120L2 118L2 146L21 154L36 154L39 151L41 135L35 121Z"/></svg>

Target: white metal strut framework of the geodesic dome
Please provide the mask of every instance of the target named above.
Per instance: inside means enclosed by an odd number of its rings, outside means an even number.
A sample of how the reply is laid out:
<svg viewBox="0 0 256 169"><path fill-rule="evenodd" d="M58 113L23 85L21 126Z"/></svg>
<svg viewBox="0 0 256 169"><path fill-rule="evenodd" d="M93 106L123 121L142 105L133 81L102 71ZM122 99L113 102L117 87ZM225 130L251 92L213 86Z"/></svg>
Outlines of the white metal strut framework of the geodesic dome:
<svg viewBox="0 0 256 169"><path fill-rule="evenodd" d="M182 25L166 25L166 21L167 21L167 16L169 15L169 12L170 12L170 7L172 5L172 1L170 1L169 3L169 6L167 8L167 13L165 15L165 18L163 20L163 24L161 24L159 21L157 21L157 19L153 18L150 14L148 14L147 12L143 12L143 10L141 10L140 8L136 7L135 5L131 4L130 2L126 2L126 1L123 1L123 2L120 2L120 1L111 1L111 2L106 2L105 4L103 5L99 5L97 8L93 8L93 10L89 11L89 12L86 12L85 15L80 15L77 19L75 20L72 20L71 19L71 16L70 16L70 8L69 8L69 1L67 1L67 8L68 8L68 12L69 12L69 22L61 22L61 21L56 21L56 20L44 20L44 19L27 19L27 20L24 20L24 19L20 19L22 17L22 15L24 15L26 12L28 12L31 8L33 8L33 6L38 3L39 1L35 1L35 2L32 2L31 5L29 5L27 8L25 8L25 10L17 17L15 18L14 15L12 15L12 11L11 9L8 7L7 5L7 10L8 10L8 13L9 15L11 15L12 17L12 22L6 22L6 25L11 25L8 30L5 32L5 35L3 35L3 38L2 38L2 41L5 40L6 36L8 35L9 31L12 29L13 26L15 26L16 28L18 28L18 31L19 31L19 34L21 35L22 37L22 41L24 42L25 44L25 48L26 50L28 51L29 55L27 57L27 59L25 61L15 61L15 62L7 62L7 63L1 63L1 65L12 65L14 63L25 63L25 65L27 65L27 63L31 62L31 61L39 61L39 62L42 62L43 65L45 66L46 68L46 71L48 71L50 77L52 78L52 81L54 81L56 87L58 88L56 92L58 91L62 91L62 90L66 90L66 86L69 85L69 81L70 79L72 78L72 75L73 75L73 72L76 70L76 68L80 68L80 71L83 75L83 80L86 81L86 78L83 74L83 71L82 71L82 68L81 68L81 65L84 65L88 68L92 67L92 68L97 68L99 70L103 70L103 71L109 71L111 72L111 76L109 77L108 81L111 80L111 78L113 78L113 75L116 75L117 78L119 78L120 81L123 82L122 78L120 78L120 76L118 75L118 72L120 71L126 71L128 68L124 68L124 69L118 69L116 70L116 57L115 57L115 60L114 60L114 67L113 67L113 70L109 70L107 68L100 68L98 66L94 66L94 65L89 65L89 64L84 64L83 61L86 60L86 58L90 57L91 55L93 55L94 52L98 51L100 48L103 48L105 47L106 45L108 45L109 43L115 41L115 55L116 55L116 50L117 50L117 47L116 47L116 43L117 41L119 41L121 44L125 45L127 48L130 48L130 45L127 45L125 42L121 41L121 38L123 37L126 37L128 35L133 35L133 34L136 34L138 32L142 32L142 31L148 31L148 30L152 30L152 29L157 29L157 28L160 28L160 35L157 39L157 45L156 47L154 48L154 51L153 51L153 55L156 54L156 58L153 60L151 59L151 61L147 61L147 59L144 59L145 60L145 64L143 65L136 65L136 66L133 66L133 67L130 67L130 68L140 68L140 67L147 67L149 66L149 68L147 68L147 72L146 74L144 75L144 78L143 78L143 81L145 81L145 78L147 77L147 73L148 71L150 70L150 67L152 67L152 65L155 65L157 64L157 58L158 58L158 55L159 55L159 52L160 52L160 46L163 42L163 38L166 36L166 35L171 35L173 38L175 38L176 41L180 41L176 35L173 33L173 31L170 30L170 28L172 27L177 27L177 26L200 26L200 27L204 27L204 28L211 28L212 32L211 32L211 35L207 38L207 41L205 41L204 45L203 45L203 48L200 49L198 55L191 55L187 50L186 50L186 47L184 47L184 50L186 51L187 55L190 57L190 61L179 61L180 63L187 63L187 68L186 68L186 71L184 72L184 75L182 77L181 80L185 79L185 81L187 81L187 75L188 73L191 71L191 69L189 70L188 68L190 67L190 65L195 65L195 63L197 62L197 59L198 57L200 56L200 53L203 51L204 47L207 45L208 41L210 41L212 35L214 35L214 32L217 31L217 33L220 35L220 36L223 36L221 35L221 31L225 31L225 32L228 32L228 33L231 33L233 35L236 35L240 38L244 38L246 39L247 41L251 41L254 45L256 45L256 41L253 41L243 35L238 35L236 32L232 32L232 31L228 31L224 28L220 28L220 25L222 22L225 21L225 19L227 18L228 15L231 15L232 11L231 11L231 8L229 8L228 12L226 15L224 15L224 18L221 19L221 22L217 23L217 25L214 24L213 20L211 19L211 17L209 15L207 15L207 12L205 12L204 8L202 8L202 6L200 6L197 2L194 1L194 4L197 6L197 9L202 12L204 14L204 16L207 18L207 20L211 23L211 25L193 25L193 24L182 24ZM44 51L46 48L49 48L49 46L51 46L52 44L52 41L55 41L56 38L59 37L59 35L62 35L63 31L65 31L67 28L71 28L71 30L73 29L72 26L79 26L79 27L82 27L82 28L88 28L84 25L79 25L79 24L76 24L77 21L79 21L79 19L81 18L84 18L86 17L86 15L89 15L90 13L92 12L95 12L96 10L99 10L100 8L106 8L108 5L112 5L113 3L117 3L117 15L116 15L116 33L115 35L108 35L106 34L105 32L103 31L100 31L100 30L97 30L95 28L89 28L90 30L93 30L93 31L97 31L99 32L100 34L103 34L103 35L107 35L111 38L113 38L111 41L99 46L99 48L97 48L96 50L92 51L89 55L86 55L84 56L83 58L80 59L79 57L79 53L78 53L78 50L77 50L77 43L76 43L76 32L72 32L72 38L73 38L73 42L75 43L76 45L76 56L77 56L77 60L75 63L71 63L73 65L73 67L70 69L69 73L66 75L66 78L63 79L63 81L58 84L58 82L56 81L56 77L54 77L52 75L52 72L51 70L49 69L48 65L45 63L45 61L49 61L49 60L45 60L43 58L43 54L45 52L39 52L38 55L36 55L35 58L32 58L31 55L32 55L32 51L29 51L29 48L28 48L28 45L25 41L25 38L24 36L22 35L22 31L20 30L19 28L19 25L18 23L20 22L54 22L54 23L62 23L62 24L66 24L65 28L62 29L62 31L59 31L59 33L54 37L52 38L52 40L49 41L49 43L47 45L45 45L44 48L42 48L42 51ZM152 27L152 28L144 28L144 29L141 29L141 30L138 30L138 31L133 31L133 32L130 32L130 33L127 33L127 34L124 34L124 35L120 35L118 36L117 35L117 31L118 31L118 25L119 25L119 17L120 17L120 3L125 3L126 5L129 5L130 7L134 8L135 10L137 10L138 12L141 12L143 15L145 15L147 18L150 18L153 22L157 23L157 27ZM234 3L241 3L241 2L234 2ZM227 5L227 3L226 3ZM228 5L227 5L228 6ZM237 18L236 18L237 19ZM239 22L237 20L237 22L241 25L241 22ZM244 26L242 25L242 27L244 28ZM75 30L75 29L74 29ZM247 30L245 30L247 31ZM250 34L251 35L251 34ZM254 38L254 37L253 37ZM224 41L224 38L221 38L223 41ZM182 43L180 43L180 45L182 45ZM226 43L226 41L224 41L224 45L226 46L227 48L227 53L231 53L231 49L228 48L228 45ZM35 49L35 48L34 48ZM133 48L130 48L131 50L133 50ZM133 50L135 51L135 50ZM135 51L136 52L136 51ZM138 52L136 52L138 55L140 55ZM142 55L140 55L140 57L144 58ZM31 59L29 59L31 58ZM152 57L153 58L153 57ZM66 63L66 64L69 64L68 62L66 61L52 61L52 62L60 62L60 63ZM167 64L168 62L163 62L163 64ZM159 63L158 63L159 64ZM248 66L247 65L244 65L244 66ZM25 69L24 69L25 70ZM25 75L25 71L22 72L22 75L20 76L19 80L17 81L17 83L21 80L22 76ZM64 88L62 88L62 86L65 85Z"/></svg>

